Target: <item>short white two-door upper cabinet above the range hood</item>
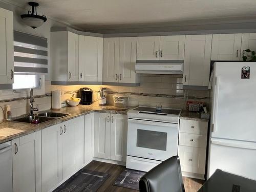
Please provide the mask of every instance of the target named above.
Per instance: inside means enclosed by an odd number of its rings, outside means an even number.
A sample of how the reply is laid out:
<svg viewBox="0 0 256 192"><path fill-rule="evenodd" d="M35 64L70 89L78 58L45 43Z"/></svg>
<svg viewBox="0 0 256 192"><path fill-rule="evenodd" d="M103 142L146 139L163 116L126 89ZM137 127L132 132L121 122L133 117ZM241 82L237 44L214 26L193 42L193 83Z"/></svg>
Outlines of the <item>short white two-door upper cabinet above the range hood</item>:
<svg viewBox="0 0 256 192"><path fill-rule="evenodd" d="M185 35L138 37L137 60L183 60Z"/></svg>

